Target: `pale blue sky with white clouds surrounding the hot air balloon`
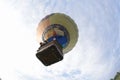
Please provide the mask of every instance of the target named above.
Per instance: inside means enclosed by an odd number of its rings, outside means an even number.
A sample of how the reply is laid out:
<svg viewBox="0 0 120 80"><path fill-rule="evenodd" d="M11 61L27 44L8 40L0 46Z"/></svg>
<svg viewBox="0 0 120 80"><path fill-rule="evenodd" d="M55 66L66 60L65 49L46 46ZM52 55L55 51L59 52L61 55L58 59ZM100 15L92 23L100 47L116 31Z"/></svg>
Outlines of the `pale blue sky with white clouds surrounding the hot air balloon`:
<svg viewBox="0 0 120 80"><path fill-rule="evenodd" d="M36 28L54 12L76 22L79 39L64 60L44 66L35 56ZM120 71L119 0L1 0L2 80L110 80Z"/></svg>

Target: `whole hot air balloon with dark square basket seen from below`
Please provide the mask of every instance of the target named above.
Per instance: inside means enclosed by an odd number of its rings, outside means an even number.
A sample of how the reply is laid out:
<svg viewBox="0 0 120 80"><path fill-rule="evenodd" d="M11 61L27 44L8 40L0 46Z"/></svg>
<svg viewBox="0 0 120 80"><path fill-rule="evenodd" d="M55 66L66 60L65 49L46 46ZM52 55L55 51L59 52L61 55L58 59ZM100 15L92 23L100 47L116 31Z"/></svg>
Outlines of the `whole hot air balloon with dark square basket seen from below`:
<svg viewBox="0 0 120 80"><path fill-rule="evenodd" d="M76 23L66 14L52 13L43 18L37 27L37 41L40 47L36 57L49 66L63 59L78 40Z"/></svg>

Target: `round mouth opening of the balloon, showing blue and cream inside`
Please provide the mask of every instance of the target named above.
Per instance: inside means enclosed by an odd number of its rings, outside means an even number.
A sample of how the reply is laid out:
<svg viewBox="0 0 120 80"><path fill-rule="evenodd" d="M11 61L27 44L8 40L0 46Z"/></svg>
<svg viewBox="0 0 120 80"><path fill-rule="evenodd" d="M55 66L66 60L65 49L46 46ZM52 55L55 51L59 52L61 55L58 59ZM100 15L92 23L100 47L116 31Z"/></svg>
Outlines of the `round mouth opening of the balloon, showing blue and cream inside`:
<svg viewBox="0 0 120 80"><path fill-rule="evenodd" d="M56 40L62 46L62 48L65 48L69 44L70 39L69 33L65 27L60 24L52 24L43 32L42 40L47 42Z"/></svg>

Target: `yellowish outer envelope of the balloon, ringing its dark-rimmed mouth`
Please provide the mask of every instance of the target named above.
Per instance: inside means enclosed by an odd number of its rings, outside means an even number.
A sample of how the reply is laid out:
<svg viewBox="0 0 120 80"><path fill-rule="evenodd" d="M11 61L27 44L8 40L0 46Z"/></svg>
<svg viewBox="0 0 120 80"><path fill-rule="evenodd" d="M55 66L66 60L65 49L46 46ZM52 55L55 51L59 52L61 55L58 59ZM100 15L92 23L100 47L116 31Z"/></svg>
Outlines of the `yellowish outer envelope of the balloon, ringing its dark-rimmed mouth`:
<svg viewBox="0 0 120 80"><path fill-rule="evenodd" d="M51 25L61 25L67 31L67 36L69 40L66 47L63 48L63 53L67 53L72 50L78 40L78 28L75 22L67 15L63 13L53 13L47 15L45 18L41 20L37 28L37 41L40 43L44 41L43 33L45 33L46 29L48 29ZM60 35L63 35L62 31L56 30L56 32ZM50 32L49 32L50 34Z"/></svg>

